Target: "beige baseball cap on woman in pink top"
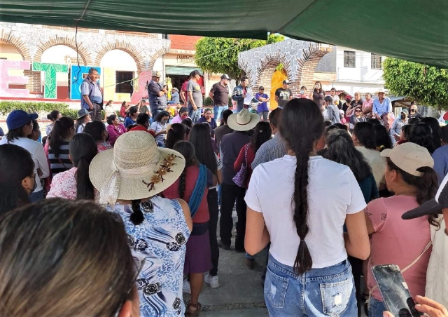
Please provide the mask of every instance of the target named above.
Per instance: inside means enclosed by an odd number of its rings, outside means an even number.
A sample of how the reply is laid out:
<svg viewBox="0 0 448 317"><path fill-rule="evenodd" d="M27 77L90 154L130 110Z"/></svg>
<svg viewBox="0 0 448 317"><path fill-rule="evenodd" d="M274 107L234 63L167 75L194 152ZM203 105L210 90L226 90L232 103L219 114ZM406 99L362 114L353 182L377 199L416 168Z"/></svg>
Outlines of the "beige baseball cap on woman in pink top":
<svg viewBox="0 0 448 317"><path fill-rule="evenodd" d="M381 156L390 158L398 168L414 176L421 176L421 172L417 170L419 168L434 168L434 160L429 151L412 142L397 145L393 149L384 149Z"/></svg>

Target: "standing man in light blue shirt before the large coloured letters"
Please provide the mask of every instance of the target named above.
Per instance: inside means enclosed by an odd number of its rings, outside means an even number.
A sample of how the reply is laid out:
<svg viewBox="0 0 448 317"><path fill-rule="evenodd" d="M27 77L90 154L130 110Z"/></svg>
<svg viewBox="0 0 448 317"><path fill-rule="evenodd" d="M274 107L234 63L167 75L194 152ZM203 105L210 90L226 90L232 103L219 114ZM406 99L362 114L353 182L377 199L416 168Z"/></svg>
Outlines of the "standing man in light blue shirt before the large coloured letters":
<svg viewBox="0 0 448 317"><path fill-rule="evenodd" d="M101 109L103 107L103 93L99 89L97 69L89 69L89 74L81 83L81 108L92 112L92 119L95 121L102 121Z"/></svg>

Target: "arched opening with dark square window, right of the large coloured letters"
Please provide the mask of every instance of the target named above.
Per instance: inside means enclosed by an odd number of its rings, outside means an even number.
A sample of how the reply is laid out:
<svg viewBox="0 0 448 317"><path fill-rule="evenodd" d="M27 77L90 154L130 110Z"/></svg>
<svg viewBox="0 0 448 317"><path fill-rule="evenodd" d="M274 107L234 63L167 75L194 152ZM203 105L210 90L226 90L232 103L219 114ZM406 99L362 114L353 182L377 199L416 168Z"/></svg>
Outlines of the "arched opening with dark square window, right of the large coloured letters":
<svg viewBox="0 0 448 317"><path fill-rule="evenodd" d="M137 89L137 62L124 50L109 50L99 66L102 67L104 100L130 101ZM134 88L135 86L135 88Z"/></svg>

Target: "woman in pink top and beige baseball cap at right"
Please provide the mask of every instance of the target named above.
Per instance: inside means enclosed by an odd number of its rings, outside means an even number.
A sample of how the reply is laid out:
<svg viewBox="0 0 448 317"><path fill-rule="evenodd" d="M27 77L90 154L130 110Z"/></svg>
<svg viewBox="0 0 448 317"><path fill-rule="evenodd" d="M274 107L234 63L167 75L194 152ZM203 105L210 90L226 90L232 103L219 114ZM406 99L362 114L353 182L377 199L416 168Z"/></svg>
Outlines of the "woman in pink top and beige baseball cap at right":
<svg viewBox="0 0 448 317"><path fill-rule="evenodd" d="M403 213L434 198L437 192L437 175L428 150L407 142L393 149L385 149L381 156L387 160L384 173L387 189L395 194L371 201L365 211L367 230L372 235L367 273L367 286L372 292L369 317L382 317L386 311L372 274L374 265L397 264L402 270L421 255L403 276L412 297L425 295L430 224L439 225L431 215L414 220L401 219Z"/></svg>

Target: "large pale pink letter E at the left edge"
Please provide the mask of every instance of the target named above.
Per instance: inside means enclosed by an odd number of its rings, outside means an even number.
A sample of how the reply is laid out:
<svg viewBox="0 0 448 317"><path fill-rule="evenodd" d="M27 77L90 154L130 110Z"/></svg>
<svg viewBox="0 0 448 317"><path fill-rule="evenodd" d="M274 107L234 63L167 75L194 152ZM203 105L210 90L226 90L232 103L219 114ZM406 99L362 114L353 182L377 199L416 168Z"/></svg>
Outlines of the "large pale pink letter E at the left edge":
<svg viewBox="0 0 448 317"><path fill-rule="evenodd" d="M26 60L0 60L0 96L1 97L31 97L28 89L9 88L9 85L26 85L28 76L9 76L8 69L27 69Z"/></svg>

